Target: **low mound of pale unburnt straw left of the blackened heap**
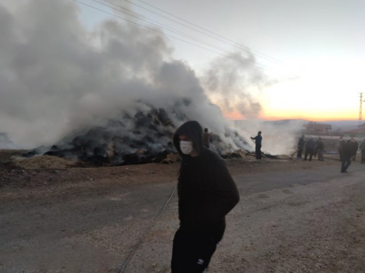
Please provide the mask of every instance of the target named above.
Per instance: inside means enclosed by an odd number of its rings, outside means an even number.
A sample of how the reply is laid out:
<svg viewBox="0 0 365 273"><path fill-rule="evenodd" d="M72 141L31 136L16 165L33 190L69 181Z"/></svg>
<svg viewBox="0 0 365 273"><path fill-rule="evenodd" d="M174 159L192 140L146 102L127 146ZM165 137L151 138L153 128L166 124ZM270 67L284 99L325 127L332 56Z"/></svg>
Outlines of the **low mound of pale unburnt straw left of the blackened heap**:
<svg viewBox="0 0 365 273"><path fill-rule="evenodd" d="M70 160L50 155L39 155L31 158L13 157L12 161L24 169L65 169L74 164Z"/></svg>

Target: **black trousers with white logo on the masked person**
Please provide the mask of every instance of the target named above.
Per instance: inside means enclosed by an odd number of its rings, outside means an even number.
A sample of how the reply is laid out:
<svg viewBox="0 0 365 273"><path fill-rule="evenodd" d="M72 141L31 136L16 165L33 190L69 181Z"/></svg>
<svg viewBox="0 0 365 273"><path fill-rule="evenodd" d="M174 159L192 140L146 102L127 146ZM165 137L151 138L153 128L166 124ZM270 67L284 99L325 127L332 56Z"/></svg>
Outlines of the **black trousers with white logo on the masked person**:
<svg viewBox="0 0 365 273"><path fill-rule="evenodd" d="M201 273L209 265L221 237L191 234L178 230L174 237L172 273Z"/></svg>

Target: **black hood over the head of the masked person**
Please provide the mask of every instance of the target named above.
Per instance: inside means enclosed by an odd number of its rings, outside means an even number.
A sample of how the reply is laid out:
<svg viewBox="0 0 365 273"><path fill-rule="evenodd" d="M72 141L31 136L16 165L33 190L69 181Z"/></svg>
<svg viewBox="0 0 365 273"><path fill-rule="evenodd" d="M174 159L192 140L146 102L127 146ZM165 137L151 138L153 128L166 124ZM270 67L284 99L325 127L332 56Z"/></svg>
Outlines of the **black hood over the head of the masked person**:
<svg viewBox="0 0 365 273"><path fill-rule="evenodd" d="M204 151L203 128L198 121L186 121L176 130L174 134L175 148L179 152L180 156L184 158L189 155L183 154L183 152L181 152L179 135L185 135L193 141L194 149L196 149L198 155Z"/></svg>

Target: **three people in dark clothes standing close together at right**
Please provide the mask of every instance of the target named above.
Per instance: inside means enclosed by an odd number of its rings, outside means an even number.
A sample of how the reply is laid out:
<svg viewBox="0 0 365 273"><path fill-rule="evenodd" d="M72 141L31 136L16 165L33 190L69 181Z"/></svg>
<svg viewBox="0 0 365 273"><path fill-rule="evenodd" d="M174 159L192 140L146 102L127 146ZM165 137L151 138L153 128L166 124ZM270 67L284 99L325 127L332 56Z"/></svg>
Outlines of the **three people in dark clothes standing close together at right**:
<svg viewBox="0 0 365 273"><path fill-rule="evenodd" d="M312 161L312 157L316 157L318 154L318 160L324 161L323 153L325 151L325 143L323 142L322 138L319 137L317 141L314 141L314 138L311 136L309 137L308 141L304 140L304 135L299 138L298 141L298 150L297 150L297 158L302 157L303 149L305 148L304 154L304 161L308 160Z"/></svg>

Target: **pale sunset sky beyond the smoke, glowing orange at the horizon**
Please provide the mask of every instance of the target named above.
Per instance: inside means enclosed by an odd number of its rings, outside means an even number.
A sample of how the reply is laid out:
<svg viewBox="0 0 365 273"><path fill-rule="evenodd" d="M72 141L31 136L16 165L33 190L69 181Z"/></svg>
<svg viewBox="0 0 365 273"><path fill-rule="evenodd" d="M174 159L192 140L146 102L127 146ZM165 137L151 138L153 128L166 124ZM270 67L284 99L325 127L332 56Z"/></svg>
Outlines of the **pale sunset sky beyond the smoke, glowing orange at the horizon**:
<svg viewBox="0 0 365 273"><path fill-rule="evenodd" d="M258 119L359 118L359 93L365 91L363 0L101 0L113 8L93 0L79 1L141 25L161 24L174 58L186 61L202 79L207 67L221 63L217 59L224 58L222 55L244 54L242 46L249 48L254 65L260 67L267 82L258 86L237 83L233 90L245 90L260 104ZM89 27L113 17L79 6L80 18ZM126 9L143 19L120 12ZM218 105L222 99L213 94L210 97ZM229 119L252 118L237 109L222 109Z"/></svg>

